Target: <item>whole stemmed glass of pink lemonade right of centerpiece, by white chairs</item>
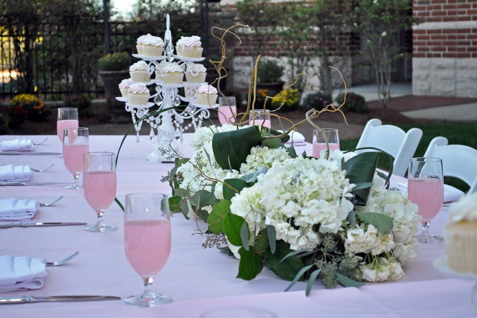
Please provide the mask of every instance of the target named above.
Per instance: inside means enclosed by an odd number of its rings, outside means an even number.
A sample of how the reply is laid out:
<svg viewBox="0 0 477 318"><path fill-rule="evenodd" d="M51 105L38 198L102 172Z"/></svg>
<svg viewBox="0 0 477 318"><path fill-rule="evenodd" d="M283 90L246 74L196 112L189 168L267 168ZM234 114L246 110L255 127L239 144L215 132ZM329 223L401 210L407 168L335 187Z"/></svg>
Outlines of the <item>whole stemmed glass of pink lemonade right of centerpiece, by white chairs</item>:
<svg viewBox="0 0 477 318"><path fill-rule="evenodd" d="M440 236L429 233L429 223L441 210L444 201L442 160L438 158L412 158L407 172L407 194L419 207L422 233L416 236L420 243L441 242Z"/></svg>

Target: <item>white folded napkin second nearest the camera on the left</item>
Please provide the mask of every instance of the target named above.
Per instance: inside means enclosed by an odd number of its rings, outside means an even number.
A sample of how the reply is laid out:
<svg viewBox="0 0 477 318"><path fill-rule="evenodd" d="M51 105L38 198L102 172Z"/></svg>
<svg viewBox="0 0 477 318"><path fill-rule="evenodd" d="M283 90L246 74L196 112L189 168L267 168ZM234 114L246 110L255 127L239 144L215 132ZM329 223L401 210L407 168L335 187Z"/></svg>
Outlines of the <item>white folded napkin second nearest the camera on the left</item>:
<svg viewBox="0 0 477 318"><path fill-rule="evenodd" d="M36 200L0 199L0 221L29 221L39 206Z"/></svg>

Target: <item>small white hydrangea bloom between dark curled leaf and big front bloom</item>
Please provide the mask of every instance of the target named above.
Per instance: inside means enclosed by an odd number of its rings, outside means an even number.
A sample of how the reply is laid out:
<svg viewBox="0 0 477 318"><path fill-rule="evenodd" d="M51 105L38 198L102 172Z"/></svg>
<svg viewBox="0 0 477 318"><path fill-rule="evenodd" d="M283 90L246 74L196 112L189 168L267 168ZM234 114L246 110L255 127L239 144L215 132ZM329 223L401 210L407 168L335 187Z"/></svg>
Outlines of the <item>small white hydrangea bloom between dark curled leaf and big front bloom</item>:
<svg viewBox="0 0 477 318"><path fill-rule="evenodd" d="M246 162L240 165L240 173L255 172L262 166L269 168L273 162L283 161L289 158L290 156L284 148L252 147L252 149L250 149L250 155L246 158Z"/></svg>

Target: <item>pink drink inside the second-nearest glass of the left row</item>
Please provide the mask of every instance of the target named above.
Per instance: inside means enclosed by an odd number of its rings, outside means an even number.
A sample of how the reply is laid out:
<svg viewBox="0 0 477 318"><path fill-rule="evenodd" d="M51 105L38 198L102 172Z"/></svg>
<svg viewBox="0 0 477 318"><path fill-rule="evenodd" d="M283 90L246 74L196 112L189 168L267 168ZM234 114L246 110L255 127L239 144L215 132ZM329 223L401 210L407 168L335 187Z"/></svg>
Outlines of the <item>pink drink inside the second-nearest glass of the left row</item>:
<svg viewBox="0 0 477 318"><path fill-rule="evenodd" d="M116 171L84 172L83 193L91 208L105 211L116 196Z"/></svg>

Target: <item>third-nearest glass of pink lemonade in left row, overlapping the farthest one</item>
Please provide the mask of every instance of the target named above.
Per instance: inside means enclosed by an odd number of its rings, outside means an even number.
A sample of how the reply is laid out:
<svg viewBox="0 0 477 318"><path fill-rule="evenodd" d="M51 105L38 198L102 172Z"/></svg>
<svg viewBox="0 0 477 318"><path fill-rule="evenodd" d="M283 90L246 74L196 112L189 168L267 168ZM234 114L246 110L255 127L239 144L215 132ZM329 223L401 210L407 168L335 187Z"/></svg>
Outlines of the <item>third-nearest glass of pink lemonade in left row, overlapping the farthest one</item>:
<svg viewBox="0 0 477 318"><path fill-rule="evenodd" d="M87 152L89 152L87 128L66 128L63 130L63 161L75 178L73 184L64 187L65 189L74 190L82 187L78 181L83 171L83 154Z"/></svg>

